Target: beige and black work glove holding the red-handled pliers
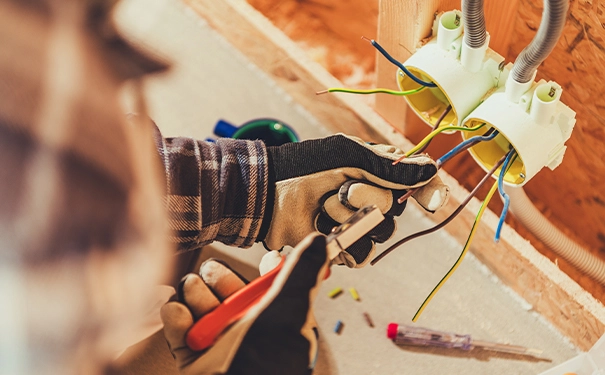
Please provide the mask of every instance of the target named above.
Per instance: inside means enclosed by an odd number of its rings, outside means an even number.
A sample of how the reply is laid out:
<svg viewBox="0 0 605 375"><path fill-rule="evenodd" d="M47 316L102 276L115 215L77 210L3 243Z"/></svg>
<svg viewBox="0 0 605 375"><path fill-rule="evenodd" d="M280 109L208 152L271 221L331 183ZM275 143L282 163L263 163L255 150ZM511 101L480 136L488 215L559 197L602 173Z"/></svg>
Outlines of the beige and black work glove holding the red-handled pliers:
<svg viewBox="0 0 605 375"><path fill-rule="evenodd" d="M273 253L266 256L276 264ZM288 254L264 297L201 352L187 346L188 330L246 281L216 260L206 261L199 275L185 276L177 292L180 302L161 310L180 374L310 374L317 354L310 311L327 267L326 238L312 233Z"/></svg>

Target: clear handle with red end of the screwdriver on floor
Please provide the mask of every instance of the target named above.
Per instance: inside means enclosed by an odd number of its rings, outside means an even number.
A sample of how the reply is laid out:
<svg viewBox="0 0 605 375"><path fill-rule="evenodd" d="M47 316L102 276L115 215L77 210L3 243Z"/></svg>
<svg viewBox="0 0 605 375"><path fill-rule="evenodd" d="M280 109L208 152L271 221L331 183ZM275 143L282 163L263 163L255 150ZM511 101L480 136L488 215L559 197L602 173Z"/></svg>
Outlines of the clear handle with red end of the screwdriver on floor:
<svg viewBox="0 0 605 375"><path fill-rule="evenodd" d="M398 345L436 346L462 350L470 350L473 347L470 335L459 335L397 323L389 324L387 337Z"/></svg>

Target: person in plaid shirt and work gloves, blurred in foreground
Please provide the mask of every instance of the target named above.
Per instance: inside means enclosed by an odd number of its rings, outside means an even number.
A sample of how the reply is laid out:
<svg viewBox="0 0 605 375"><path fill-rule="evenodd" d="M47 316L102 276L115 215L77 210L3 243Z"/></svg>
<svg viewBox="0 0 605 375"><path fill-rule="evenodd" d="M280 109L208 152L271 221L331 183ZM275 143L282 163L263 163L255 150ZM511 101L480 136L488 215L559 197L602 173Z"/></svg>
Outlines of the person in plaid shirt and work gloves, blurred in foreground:
<svg viewBox="0 0 605 375"><path fill-rule="evenodd" d="M345 135L280 147L162 138L118 103L167 66L118 35L114 0L0 0L0 373L101 374L168 282L175 252L212 241L295 249L270 298L216 344L193 322L246 280L224 263L186 275L162 307L182 374L308 374L310 313L329 266L324 233L356 208L387 219L333 262L361 267L395 229L410 188L429 211L447 188L426 155ZM279 256L275 256L275 259Z"/></svg>

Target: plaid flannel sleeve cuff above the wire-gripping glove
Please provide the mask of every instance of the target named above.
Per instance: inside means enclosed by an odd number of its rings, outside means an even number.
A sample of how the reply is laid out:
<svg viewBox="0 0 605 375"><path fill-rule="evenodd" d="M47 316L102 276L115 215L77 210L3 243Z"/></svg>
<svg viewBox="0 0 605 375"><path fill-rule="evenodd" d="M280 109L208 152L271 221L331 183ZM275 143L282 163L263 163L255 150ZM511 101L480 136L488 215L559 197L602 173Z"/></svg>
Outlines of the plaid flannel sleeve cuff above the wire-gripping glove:
<svg viewBox="0 0 605 375"><path fill-rule="evenodd" d="M172 241L191 250L212 241L250 247L267 203L267 152L261 141L162 138Z"/></svg>

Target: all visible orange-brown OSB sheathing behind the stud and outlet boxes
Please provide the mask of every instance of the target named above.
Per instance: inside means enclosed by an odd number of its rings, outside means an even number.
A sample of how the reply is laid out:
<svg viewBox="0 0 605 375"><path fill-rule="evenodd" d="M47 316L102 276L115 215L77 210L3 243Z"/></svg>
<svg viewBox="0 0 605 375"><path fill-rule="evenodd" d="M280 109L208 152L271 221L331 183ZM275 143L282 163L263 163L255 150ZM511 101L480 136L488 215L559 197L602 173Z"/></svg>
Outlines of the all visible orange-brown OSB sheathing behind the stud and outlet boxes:
<svg viewBox="0 0 605 375"><path fill-rule="evenodd" d="M517 12L504 12L507 20L516 20L512 32L509 32L505 23L496 23L498 20L493 15L497 7L491 6L487 14L488 31L499 35L492 47L509 61L514 61L533 38L542 13L541 0L517 1ZM311 57L334 76L351 86L368 86L367 77L372 71L352 74L351 68L346 68L346 65L364 69L374 67L375 53L368 50L367 44L360 43L359 36L376 35L372 30L377 27L377 0L356 1L354 4L333 0L249 2L303 48L311 50ZM491 5L489 3L486 2ZM563 38L540 67L538 78L552 79L563 85L563 101L578 112L578 122L563 164L555 172L545 170L540 173L527 184L527 192L537 207L562 231L605 259L605 191L601 188L605 185L605 178L602 177L605 175L605 147L601 146L605 140L604 23L605 1L572 1ZM509 51L503 51L503 46L509 41L512 42ZM338 60L338 63L332 63L334 60ZM391 102L402 105L403 100L394 98ZM416 142L426 131L426 128L412 125L406 129L406 136ZM435 142L429 152L439 155L457 141L455 136L442 138ZM467 189L471 189L482 177L481 170L468 155L459 157L446 170ZM493 200L490 207L499 212L501 203ZM507 221L543 254L557 261L559 267L586 290L605 301L605 286L558 259L513 218Z"/></svg>

